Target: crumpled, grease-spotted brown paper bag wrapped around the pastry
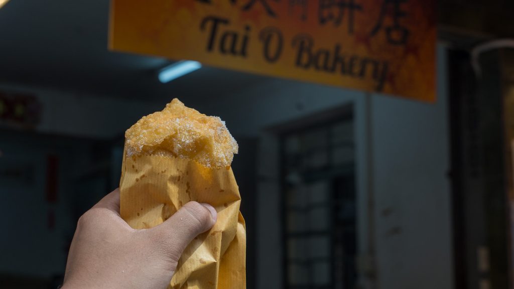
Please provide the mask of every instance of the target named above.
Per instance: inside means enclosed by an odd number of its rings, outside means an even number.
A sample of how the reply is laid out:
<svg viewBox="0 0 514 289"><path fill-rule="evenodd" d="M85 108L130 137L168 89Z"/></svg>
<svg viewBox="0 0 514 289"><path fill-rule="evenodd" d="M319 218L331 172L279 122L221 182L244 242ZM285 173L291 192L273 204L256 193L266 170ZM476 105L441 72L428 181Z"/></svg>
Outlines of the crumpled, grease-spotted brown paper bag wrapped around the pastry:
<svg viewBox="0 0 514 289"><path fill-rule="evenodd" d="M246 288L245 221L232 169L168 156L123 155L120 214L131 227L154 227L189 201L217 211L214 227L183 252L168 288Z"/></svg>

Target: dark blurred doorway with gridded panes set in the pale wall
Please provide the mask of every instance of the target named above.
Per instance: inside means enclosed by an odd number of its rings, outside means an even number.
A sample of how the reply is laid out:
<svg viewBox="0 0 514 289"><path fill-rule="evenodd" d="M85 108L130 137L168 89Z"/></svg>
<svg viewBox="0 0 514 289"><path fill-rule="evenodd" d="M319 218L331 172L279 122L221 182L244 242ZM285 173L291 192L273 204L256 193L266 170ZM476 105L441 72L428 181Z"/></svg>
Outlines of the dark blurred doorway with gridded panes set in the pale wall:
<svg viewBox="0 0 514 289"><path fill-rule="evenodd" d="M284 283L354 288L356 190L350 111L281 134Z"/></svg>

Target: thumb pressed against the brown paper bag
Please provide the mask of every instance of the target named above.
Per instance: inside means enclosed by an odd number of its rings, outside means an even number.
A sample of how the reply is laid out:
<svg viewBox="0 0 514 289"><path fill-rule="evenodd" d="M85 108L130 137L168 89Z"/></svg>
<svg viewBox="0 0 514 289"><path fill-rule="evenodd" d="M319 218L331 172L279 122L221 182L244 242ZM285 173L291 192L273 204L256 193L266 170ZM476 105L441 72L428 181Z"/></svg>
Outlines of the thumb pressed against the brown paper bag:
<svg viewBox="0 0 514 289"><path fill-rule="evenodd" d="M216 210L208 204L189 202L164 223L151 229L154 240L173 261L178 261L183 250L216 222Z"/></svg>

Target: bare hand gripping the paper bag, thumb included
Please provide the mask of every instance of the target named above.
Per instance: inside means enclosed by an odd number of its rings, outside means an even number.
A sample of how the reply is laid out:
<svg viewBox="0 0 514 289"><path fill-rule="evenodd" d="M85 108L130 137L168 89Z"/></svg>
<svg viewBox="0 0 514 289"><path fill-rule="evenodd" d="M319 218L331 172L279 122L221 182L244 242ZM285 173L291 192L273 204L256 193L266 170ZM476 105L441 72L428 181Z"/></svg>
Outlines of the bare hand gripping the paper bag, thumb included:
<svg viewBox="0 0 514 289"><path fill-rule="evenodd" d="M128 226L119 211L116 189L80 217L62 288L167 288L182 251L216 222L216 210L196 202L144 230Z"/></svg>

